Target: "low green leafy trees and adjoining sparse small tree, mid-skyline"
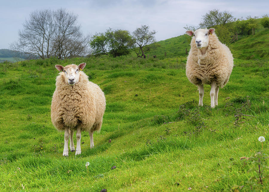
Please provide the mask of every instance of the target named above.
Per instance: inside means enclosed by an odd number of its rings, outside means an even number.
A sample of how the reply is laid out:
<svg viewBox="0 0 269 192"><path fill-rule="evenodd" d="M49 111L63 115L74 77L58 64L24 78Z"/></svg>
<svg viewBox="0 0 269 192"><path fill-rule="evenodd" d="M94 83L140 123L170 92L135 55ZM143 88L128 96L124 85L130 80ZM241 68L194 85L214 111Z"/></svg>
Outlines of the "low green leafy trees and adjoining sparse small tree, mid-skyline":
<svg viewBox="0 0 269 192"><path fill-rule="evenodd" d="M131 49L137 57L145 58L145 52L158 47L155 39L156 31L150 31L148 25L141 25L131 34L127 30L112 30L96 33L90 39L90 46L94 55L108 55L113 57L127 55Z"/></svg>

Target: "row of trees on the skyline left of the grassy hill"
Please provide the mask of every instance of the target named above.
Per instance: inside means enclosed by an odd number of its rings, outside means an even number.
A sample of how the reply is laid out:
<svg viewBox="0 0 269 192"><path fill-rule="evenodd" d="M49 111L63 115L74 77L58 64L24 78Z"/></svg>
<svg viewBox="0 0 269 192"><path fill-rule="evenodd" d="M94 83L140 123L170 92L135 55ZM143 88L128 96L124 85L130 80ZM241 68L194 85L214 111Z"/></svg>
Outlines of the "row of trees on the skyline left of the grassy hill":
<svg viewBox="0 0 269 192"><path fill-rule="evenodd" d="M77 24L78 15L66 9L52 11L36 10L19 30L19 39L10 45L15 53L25 53L30 58L69 59L94 55L127 55L135 50L137 57L145 57L145 51L157 47L155 31L148 25L141 25L132 34L128 30L112 30L93 36L84 35ZM91 50L90 50L91 47ZM16 55L18 56L18 55Z"/></svg>

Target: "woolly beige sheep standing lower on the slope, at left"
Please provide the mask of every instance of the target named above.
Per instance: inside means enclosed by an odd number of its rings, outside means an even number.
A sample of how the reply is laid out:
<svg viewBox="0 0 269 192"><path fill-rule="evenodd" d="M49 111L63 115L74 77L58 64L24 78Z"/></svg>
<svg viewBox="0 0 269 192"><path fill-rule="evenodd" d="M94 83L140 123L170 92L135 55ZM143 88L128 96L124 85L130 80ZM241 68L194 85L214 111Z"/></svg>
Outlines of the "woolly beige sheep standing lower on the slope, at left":
<svg viewBox="0 0 269 192"><path fill-rule="evenodd" d="M51 102L51 122L59 131L65 131L63 156L68 156L68 138L70 150L75 151L73 132L77 130L76 154L81 153L81 131L90 135L90 148L94 147L93 132L100 131L106 109L106 98L100 87L88 80L82 71L86 63L55 65L60 71L56 77L56 89ZM63 72L61 72L63 71Z"/></svg>

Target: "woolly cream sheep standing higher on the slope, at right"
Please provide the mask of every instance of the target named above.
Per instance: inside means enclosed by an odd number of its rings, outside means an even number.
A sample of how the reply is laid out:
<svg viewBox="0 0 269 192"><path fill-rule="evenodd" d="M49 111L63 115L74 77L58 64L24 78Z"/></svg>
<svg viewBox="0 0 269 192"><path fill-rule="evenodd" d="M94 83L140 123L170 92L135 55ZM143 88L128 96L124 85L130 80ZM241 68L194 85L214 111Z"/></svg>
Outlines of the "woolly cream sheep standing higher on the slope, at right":
<svg viewBox="0 0 269 192"><path fill-rule="evenodd" d="M219 87L224 87L233 70L233 55L215 35L215 29L186 31L192 36L191 49L187 58L186 75L198 86L199 106L203 106L204 84L211 85L211 107L218 105Z"/></svg>

